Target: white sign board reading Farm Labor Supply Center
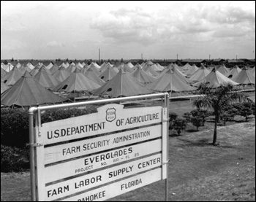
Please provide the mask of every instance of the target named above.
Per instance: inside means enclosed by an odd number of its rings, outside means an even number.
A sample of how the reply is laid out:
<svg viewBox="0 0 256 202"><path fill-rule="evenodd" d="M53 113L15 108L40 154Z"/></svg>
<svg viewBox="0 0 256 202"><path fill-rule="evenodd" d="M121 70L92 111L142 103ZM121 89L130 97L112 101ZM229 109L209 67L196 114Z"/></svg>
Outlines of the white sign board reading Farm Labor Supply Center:
<svg viewBox="0 0 256 202"><path fill-rule="evenodd" d="M57 184L51 184L45 189L45 199L47 201L56 200L67 195L79 193L80 191L89 190L92 187L113 182L117 179L122 179L127 176L132 176L133 174L150 170L151 168L159 167L161 164L162 159L161 154L159 154L129 163L124 163L120 166L107 168L92 174L75 177Z"/></svg>

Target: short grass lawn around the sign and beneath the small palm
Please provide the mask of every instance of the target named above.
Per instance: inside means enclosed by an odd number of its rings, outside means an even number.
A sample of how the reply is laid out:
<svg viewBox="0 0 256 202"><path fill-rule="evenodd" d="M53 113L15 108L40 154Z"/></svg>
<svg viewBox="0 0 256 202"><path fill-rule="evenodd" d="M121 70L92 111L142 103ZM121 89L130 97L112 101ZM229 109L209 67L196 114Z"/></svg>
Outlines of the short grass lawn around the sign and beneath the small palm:
<svg viewBox="0 0 256 202"><path fill-rule="evenodd" d="M255 93L252 93L255 96ZM172 101L170 112L191 111L187 101ZM169 139L169 201L255 201L255 119L213 123ZM1 173L1 201L30 201L29 172ZM164 201L165 182L155 182L109 201Z"/></svg>

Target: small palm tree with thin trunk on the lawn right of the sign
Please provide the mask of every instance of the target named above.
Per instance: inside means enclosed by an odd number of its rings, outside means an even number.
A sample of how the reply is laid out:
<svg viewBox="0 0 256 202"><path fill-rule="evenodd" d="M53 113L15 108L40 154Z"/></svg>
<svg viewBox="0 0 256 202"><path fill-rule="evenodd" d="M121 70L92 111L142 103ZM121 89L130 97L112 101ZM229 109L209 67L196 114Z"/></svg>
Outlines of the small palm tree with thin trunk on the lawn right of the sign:
<svg viewBox="0 0 256 202"><path fill-rule="evenodd" d="M229 104L241 103L249 100L244 93L233 91L233 85L223 85L216 89L203 90L206 93L204 96L197 98L193 105L198 109L201 107L206 109L212 109L214 111L214 140L213 145L217 145L217 123L219 121L219 115L223 112L223 109Z"/></svg>

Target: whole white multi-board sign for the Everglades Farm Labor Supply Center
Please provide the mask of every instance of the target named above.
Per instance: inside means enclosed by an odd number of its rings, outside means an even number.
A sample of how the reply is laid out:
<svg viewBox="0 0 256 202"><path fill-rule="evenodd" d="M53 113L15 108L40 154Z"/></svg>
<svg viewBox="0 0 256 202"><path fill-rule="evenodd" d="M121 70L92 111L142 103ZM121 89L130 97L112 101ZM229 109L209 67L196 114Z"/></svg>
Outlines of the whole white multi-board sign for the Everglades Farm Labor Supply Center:
<svg viewBox="0 0 256 202"><path fill-rule="evenodd" d="M104 201L167 179L166 104L107 104L94 114L42 125L38 107L37 125L30 128L32 195L37 201Z"/></svg>

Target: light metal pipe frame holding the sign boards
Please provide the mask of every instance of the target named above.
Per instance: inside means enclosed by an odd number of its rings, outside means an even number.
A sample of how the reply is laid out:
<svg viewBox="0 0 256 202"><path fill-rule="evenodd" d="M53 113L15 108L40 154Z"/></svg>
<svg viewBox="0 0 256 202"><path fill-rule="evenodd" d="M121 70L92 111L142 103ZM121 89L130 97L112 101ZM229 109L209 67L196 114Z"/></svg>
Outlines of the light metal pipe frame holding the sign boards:
<svg viewBox="0 0 256 202"><path fill-rule="evenodd" d="M83 101L72 104L58 104L52 106L33 106L29 109L29 146L30 146L30 176L31 176L31 201L44 201L45 195L45 168L44 163L44 139L41 133L41 112L50 109L61 109L68 107L86 106L92 104L113 104L122 101L141 100L148 98L159 98L162 100L162 179L165 180L165 201L168 201L168 154L169 154L169 94L156 93L144 96L130 96L123 98L111 98L97 101ZM107 121L110 123L116 119L116 112L109 109ZM35 123L34 123L35 118ZM107 117L106 117L107 118ZM42 160L43 159L43 160Z"/></svg>

